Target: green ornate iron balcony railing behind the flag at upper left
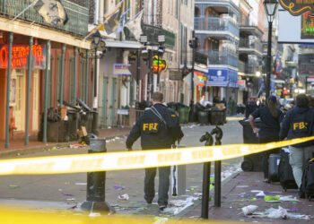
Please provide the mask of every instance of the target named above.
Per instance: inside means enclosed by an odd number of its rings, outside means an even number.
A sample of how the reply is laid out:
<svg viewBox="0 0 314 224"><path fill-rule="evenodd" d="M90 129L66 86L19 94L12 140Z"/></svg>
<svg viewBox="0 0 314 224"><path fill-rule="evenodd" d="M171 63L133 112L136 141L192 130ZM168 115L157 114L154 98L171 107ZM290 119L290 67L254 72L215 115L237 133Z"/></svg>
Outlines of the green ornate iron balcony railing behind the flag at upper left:
<svg viewBox="0 0 314 224"><path fill-rule="evenodd" d="M88 1L88 0L86 0ZM61 4L65 7L67 22L64 26L56 27L57 30L64 30L77 35L85 36L88 32L89 10L87 7L71 3L67 0L61 0ZM13 18L21 13L30 1L25 0L1 0L0 1L0 16ZM35 22L40 25L51 27L50 24L44 21L43 17L31 7L26 12L18 17L19 20L27 22Z"/></svg>

